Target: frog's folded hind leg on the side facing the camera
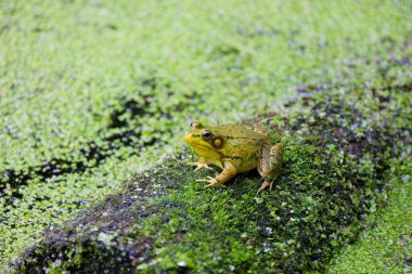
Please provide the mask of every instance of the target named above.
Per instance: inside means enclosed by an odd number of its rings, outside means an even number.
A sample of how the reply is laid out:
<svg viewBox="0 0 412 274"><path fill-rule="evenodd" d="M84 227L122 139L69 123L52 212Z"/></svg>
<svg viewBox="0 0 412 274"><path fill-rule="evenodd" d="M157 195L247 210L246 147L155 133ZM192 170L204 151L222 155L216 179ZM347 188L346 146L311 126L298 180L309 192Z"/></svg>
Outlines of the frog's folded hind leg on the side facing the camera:
<svg viewBox="0 0 412 274"><path fill-rule="evenodd" d="M272 147L265 146L259 160L258 171L265 179L265 182L257 193L266 190L272 190L273 181L279 177L282 166L282 144L278 143Z"/></svg>

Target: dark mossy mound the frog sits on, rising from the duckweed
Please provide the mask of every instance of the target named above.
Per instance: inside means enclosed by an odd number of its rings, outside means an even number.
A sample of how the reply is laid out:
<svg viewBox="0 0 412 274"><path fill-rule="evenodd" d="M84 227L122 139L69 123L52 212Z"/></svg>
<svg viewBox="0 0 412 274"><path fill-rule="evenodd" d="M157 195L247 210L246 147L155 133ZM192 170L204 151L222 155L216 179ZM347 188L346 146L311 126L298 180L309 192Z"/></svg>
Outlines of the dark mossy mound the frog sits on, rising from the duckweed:
<svg viewBox="0 0 412 274"><path fill-rule="evenodd" d="M302 87L284 114L245 120L284 146L271 192L256 195L256 171L204 188L211 171L193 172L183 151L46 232L12 272L323 272L385 204L388 162L411 142L394 122L411 87L329 90Z"/></svg>

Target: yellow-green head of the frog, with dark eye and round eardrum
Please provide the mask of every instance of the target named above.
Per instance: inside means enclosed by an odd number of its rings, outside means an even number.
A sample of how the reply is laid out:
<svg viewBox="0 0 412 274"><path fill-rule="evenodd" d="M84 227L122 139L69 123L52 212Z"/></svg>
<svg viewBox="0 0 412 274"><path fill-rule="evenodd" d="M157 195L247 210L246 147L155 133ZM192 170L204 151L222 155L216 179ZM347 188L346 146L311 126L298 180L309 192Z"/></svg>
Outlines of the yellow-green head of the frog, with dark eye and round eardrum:
<svg viewBox="0 0 412 274"><path fill-rule="evenodd" d="M199 121L193 121L190 125L190 130L184 134L184 142L194 148L219 151L223 148L224 139L216 132L215 128L203 126Z"/></svg>

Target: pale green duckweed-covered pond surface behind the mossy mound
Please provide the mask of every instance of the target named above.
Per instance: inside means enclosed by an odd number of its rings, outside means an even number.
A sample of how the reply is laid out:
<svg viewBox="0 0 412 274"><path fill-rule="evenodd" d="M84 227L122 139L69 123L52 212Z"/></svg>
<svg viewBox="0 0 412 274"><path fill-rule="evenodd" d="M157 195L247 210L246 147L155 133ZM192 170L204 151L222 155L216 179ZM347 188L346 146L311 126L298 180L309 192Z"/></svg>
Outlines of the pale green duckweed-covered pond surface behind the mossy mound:
<svg viewBox="0 0 412 274"><path fill-rule="evenodd" d="M180 149L192 120L254 117L305 87L410 84L411 14L411 1L0 1L0 262Z"/></svg>

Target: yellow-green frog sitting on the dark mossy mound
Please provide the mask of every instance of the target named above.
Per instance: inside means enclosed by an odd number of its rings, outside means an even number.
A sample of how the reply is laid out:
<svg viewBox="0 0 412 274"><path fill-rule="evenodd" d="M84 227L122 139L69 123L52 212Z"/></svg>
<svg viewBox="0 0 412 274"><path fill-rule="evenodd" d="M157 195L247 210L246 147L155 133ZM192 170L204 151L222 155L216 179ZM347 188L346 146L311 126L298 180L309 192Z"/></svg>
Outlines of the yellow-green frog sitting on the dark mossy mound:
<svg viewBox="0 0 412 274"><path fill-rule="evenodd" d="M207 177L196 181L207 182L205 187L222 185L237 173L257 169L265 182L257 194L269 188L280 175L282 166L282 144L271 144L268 133L259 127L248 127L243 123L204 126L193 121L184 133L186 142L198 156L194 171L211 169L216 166L221 172L216 177Z"/></svg>

